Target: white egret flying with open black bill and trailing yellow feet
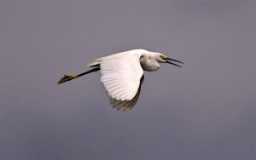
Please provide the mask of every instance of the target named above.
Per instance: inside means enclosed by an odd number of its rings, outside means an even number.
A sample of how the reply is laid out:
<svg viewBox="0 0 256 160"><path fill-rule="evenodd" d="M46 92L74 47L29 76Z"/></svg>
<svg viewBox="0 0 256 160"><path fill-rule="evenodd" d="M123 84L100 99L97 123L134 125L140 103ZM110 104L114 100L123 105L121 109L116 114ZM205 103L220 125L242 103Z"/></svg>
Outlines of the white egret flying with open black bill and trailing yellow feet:
<svg viewBox="0 0 256 160"><path fill-rule="evenodd" d="M168 58L164 54L144 49L129 50L97 58L88 65L93 68L90 71L79 75L64 75L58 84L100 70L101 81L107 91L110 104L117 110L127 111L135 106L138 100L144 79L143 70L157 71L160 69L160 63L178 66L168 60L183 64L183 62Z"/></svg>

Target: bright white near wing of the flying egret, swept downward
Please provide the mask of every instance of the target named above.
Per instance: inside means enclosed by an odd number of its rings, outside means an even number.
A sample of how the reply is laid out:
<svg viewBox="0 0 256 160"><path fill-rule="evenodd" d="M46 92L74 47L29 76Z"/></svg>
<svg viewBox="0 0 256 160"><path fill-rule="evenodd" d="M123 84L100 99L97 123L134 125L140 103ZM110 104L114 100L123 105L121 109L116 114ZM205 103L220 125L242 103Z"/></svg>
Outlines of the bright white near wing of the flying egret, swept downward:
<svg viewBox="0 0 256 160"><path fill-rule="evenodd" d="M113 54L113 56L102 58L100 62L101 80L110 100L123 103L137 99L140 79L143 77L139 59L140 54L131 53Z"/></svg>

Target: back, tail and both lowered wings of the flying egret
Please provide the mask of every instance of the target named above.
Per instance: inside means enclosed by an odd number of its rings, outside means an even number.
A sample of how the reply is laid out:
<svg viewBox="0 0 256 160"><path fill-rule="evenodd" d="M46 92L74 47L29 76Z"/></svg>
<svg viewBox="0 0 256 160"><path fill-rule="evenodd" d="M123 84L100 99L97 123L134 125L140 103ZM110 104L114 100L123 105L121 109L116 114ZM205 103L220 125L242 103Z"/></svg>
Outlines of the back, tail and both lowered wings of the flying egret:
<svg viewBox="0 0 256 160"><path fill-rule="evenodd" d="M101 68L101 81L108 94L109 102L117 110L131 110L137 103L143 83L143 69L140 57L143 49L126 51L100 57L88 66Z"/></svg>

